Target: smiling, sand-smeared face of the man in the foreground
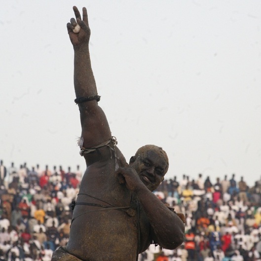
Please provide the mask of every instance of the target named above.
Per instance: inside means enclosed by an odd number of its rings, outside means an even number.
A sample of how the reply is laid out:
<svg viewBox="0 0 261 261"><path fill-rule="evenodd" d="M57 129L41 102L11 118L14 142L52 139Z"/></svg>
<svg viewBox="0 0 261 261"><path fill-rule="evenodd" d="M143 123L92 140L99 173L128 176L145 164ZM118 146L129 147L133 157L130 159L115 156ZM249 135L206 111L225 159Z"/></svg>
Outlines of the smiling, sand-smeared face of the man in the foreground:
<svg viewBox="0 0 261 261"><path fill-rule="evenodd" d="M131 166L137 171L142 182L150 191L154 191L168 170L164 157L153 150L148 150L137 156Z"/></svg>

